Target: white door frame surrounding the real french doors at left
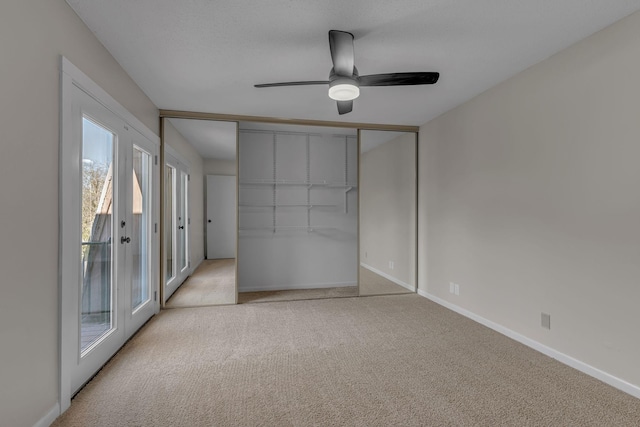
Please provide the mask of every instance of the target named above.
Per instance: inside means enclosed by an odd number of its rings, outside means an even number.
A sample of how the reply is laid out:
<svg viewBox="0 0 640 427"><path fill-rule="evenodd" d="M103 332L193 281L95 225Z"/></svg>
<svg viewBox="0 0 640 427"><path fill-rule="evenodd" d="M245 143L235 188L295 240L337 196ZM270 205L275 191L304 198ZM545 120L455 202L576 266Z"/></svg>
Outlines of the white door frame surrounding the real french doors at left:
<svg viewBox="0 0 640 427"><path fill-rule="evenodd" d="M77 337L74 334L77 332L78 319L74 319L74 313L78 310L78 295L76 291L71 291L70 286L66 283L77 282L79 272L77 270L78 257L78 242L77 239L69 236L77 236L77 227L79 224L79 194L78 188L75 184L80 176L80 162L75 162L73 159L80 159L80 148L78 144L74 144L74 120L73 120L73 108L74 108L74 92L79 89L85 92L88 96L96 100L99 104L113 113L119 120L122 120L126 125L135 129L145 139L148 139L153 143L158 152L160 149L160 138L149 130L140 120L138 120L133 114L131 114L126 108L118 103L113 97L111 97L106 91L98 86L93 80L91 80L86 74L84 74L79 68L73 65L64 56L60 57L60 156L59 156L59 217L60 227L58 229L58 242L59 242L59 273L58 273L58 287L59 287L59 367L60 367L60 381L59 381L59 405L60 413L66 411L71 405L71 397L74 390L71 389L71 374L72 368L77 358ZM156 156L155 154L154 156ZM71 159L71 160L69 160ZM153 187L154 192L154 204L152 207L152 221L158 221L159 214L159 182L157 177ZM152 238L152 255L151 267L152 277L150 277L152 283L152 292L158 291L159 280L158 274L158 252L159 252L159 233L154 233ZM75 261L74 261L75 260ZM159 311L159 303L157 298L152 300L153 313ZM126 316L125 316L126 318ZM124 318L122 320L125 320ZM124 344L124 343L123 343Z"/></svg>

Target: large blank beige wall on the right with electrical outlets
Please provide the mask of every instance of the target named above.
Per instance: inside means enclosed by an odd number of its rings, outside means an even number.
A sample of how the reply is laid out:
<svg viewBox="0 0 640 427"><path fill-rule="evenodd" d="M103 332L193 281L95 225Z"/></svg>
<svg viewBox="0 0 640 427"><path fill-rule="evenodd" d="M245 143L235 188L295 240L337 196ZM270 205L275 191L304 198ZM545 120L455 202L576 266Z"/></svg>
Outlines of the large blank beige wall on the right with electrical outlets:
<svg viewBox="0 0 640 427"><path fill-rule="evenodd" d="M419 205L422 291L636 386L638 76L635 13L427 123Z"/></svg>

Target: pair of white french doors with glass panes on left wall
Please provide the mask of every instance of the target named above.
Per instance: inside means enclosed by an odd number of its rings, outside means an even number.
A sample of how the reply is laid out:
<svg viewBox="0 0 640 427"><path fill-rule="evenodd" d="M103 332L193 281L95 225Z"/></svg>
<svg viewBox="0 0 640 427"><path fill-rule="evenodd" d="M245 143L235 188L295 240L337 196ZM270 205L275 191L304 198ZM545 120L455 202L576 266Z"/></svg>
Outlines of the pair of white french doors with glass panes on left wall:
<svg viewBox="0 0 640 427"><path fill-rule="evenodd" d="M77 85L63 90L61 365L73 395L158 310L159 176L157 144Z"/></svg>

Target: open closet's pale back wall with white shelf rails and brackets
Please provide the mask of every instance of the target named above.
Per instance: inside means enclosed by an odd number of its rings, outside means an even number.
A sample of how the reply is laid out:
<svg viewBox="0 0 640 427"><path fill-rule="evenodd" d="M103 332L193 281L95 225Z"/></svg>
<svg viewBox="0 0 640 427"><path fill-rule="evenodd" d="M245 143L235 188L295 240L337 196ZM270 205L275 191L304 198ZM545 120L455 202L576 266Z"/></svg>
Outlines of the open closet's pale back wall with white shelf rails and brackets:
<svg viewBox="0 0 640 427"><path fill-rule="evenodd" d="M241 129L238 153L240 292L353 286L356 137Z"/></svg>

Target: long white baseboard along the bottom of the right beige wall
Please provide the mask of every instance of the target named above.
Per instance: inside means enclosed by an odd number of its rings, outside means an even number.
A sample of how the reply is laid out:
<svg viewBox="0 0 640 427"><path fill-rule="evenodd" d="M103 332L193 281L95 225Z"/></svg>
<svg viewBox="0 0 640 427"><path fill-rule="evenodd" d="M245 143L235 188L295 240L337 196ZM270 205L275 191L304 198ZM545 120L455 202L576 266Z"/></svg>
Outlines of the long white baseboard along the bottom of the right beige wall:
<svg viewBox="0 0 640 427"><path fill-rule="evenodd" d="M518 341L521 344L526 345L527 347L530 347L536 351L539 351L540 353L545 354L553 359L556 359L557 361L564 363L567 366L577 369L580 372L583 372L593 378L596 378L606 384L609 384L612 387L617 388L618 390L621 390L627 394L630 394L633 397L640 399L640 387L638 387L637 385L631 384L623 379L615 377L598 368L594 368L593 366L588 365L578 359L574 359L571 356L567 356L566 354L561 353L558 350L555 350L551 347L547 347L546 345L541 344L538 341L532 340L531 338L528 338L522 334L514 332L511 329L508 329L498 323L485 319L484 317L479 316L475 313L472 313L469 310L466 310L455 304L452 304L449 301L443 300L442 298L438 298L435 295L431 295L428 292L423 291L422 289L418 289L418 295L423 296L435 302L436 304L439 304L452 311L455 311L456 313L461 314L471 320L474 320L488 328L491 328L494 331L501 333L502 335L505 335L513 340Z"/></svg>

